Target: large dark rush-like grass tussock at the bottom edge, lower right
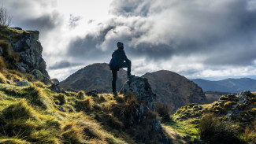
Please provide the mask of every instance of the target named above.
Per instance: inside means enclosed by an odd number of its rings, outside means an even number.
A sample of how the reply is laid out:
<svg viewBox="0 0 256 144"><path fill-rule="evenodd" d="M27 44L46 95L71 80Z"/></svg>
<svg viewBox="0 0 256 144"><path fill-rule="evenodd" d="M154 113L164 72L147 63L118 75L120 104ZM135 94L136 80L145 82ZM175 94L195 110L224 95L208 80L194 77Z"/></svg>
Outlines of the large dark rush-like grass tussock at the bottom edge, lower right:
<svg viewBox="0 0 256 144"><path fill-rule="evenodd" d="M213 113L202 116L198 127L199 134L205 142L242 143L238 138L239 128L232 122L219 120Z"/></svg>

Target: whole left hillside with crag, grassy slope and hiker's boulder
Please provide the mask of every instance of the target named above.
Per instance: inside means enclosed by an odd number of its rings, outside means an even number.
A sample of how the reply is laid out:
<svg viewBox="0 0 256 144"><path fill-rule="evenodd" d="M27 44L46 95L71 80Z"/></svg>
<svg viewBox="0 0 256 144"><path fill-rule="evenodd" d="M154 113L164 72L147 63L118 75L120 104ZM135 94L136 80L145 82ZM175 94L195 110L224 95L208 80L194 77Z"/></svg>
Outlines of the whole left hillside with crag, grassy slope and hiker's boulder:
<svg viewBox="0 0 256 144"><path fill-rule="evenodd" d="M128 92L113 98L113 94L64 91L46 75L39 33L0 30L0 143L171 142L171 135L161 127L147 79L134 79L147 86L134 84L135 89L140 88L138 95ZM13 50L17 47L20 49ZM24 51L29 52L27 57L23 57Z"/></svg>

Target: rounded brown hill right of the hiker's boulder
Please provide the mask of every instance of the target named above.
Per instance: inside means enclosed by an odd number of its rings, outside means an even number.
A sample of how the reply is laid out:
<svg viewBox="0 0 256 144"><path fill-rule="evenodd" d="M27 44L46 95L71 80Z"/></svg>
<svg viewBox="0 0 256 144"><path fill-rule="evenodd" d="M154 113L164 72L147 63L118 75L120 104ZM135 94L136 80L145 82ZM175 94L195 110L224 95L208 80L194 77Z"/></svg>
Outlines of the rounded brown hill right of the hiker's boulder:
<svg viewBox="0 0 256 144"><path fill-rule="evenodd" d="M157 102L168 105L172 111L189 103L207 102L201 87L175 72L147 72L142 77L148 79L153 92L157 94Z"/></svg>

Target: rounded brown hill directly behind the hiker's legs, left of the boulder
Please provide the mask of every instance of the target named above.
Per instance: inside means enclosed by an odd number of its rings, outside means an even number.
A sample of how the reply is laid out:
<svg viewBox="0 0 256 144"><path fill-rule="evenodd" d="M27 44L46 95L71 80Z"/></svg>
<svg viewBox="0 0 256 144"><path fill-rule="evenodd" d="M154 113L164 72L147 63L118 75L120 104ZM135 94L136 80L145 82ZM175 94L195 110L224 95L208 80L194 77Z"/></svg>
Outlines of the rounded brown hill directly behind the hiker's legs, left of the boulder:
<svg viewBox="0 0 256 144"><path fill-rule="evenodd" d="M127 72L124 69L120 69L117 72L117 90L121 90L125 81L127 81ZM109 69L109 65L97 63L78 70L62 81L60 85L66 90L91 91L97 89L103 92L112 92L111 83L112 72Z"/></svg>

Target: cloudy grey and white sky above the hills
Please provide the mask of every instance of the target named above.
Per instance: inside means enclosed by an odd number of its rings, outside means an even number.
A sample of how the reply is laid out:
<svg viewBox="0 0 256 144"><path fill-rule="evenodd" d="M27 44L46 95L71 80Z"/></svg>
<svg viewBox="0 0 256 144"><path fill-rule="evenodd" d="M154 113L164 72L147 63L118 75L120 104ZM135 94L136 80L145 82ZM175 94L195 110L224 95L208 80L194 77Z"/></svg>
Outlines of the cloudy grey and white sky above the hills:
<svg viewBox="0 0 256 144"><path fill-rule="evenodd" d="M109 63L117 42L142 76L256 79L256 0L0 0L11 27L40 31L51 78Z"/></svg>

